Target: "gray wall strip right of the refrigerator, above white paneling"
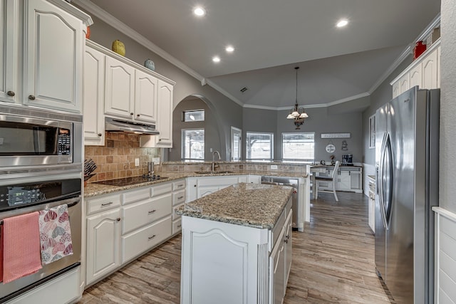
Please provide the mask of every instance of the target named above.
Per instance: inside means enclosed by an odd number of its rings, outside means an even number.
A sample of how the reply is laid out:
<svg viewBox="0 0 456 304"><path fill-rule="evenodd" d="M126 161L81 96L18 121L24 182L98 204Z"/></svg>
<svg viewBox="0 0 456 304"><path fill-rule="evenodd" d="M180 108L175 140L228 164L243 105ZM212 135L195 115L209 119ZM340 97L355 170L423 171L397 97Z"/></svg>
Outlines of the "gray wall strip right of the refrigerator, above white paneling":
<svg viewBox="0 0 456 304"><path fill-rule="evenodd" d="M440 56L440 206L456 213L456 1L442 0Z"/></svg>

